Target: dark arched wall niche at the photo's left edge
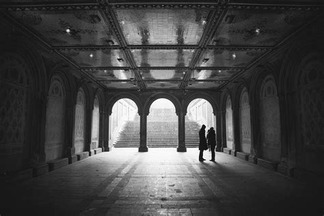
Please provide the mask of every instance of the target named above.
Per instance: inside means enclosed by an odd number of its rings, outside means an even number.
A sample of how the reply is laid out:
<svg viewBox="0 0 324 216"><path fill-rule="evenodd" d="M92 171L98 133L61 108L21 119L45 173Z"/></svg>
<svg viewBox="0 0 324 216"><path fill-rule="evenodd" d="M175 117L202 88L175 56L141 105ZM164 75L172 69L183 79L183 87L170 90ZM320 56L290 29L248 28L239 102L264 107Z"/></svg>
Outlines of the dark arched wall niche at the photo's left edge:
<svg viewBox="0 0 324 216"><path fill-rule="evenodd" d="M13 51L0 55L0 170L21 170L31 157L31 103L40 77L32 59Z"/></svg>

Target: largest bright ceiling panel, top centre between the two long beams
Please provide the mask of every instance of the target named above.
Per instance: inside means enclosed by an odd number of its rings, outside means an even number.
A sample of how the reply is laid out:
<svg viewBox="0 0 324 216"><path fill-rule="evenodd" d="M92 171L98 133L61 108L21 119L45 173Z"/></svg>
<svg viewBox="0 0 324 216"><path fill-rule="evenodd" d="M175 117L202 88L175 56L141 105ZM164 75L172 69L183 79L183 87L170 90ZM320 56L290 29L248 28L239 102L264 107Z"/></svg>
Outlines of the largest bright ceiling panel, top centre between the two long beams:
<svg viewBox="0 0 324 216"><path fill-rule="evenodd" d="M198 44L208 9L117 9L118 22L131 45Z"/></svg>

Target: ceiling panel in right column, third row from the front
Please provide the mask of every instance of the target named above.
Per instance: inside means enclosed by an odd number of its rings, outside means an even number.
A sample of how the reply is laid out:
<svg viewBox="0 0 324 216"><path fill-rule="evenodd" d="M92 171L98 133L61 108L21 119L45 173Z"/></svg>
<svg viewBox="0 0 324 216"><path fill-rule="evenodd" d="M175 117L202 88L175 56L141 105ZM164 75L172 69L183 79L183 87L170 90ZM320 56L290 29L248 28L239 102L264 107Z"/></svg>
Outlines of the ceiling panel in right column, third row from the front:
<svg viewBox="0 0 324 216"><path fill-rule="evenodd" d="M197 80L228 80L240 70L194 70L193 78Z"/></svg>

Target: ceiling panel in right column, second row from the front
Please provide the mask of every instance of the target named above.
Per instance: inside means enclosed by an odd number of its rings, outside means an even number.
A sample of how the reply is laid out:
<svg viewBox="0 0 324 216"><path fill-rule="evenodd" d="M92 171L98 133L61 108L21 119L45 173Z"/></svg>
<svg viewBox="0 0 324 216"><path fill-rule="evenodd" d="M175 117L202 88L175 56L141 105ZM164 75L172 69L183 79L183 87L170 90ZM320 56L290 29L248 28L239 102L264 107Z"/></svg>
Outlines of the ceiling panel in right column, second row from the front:
<svg viewBox="0 0 324 216"><path fill-rule="evenodd" d="M208 49L200 55L198 67L246 67L252 61L260 57L265 50L221 50Z"/></svg>

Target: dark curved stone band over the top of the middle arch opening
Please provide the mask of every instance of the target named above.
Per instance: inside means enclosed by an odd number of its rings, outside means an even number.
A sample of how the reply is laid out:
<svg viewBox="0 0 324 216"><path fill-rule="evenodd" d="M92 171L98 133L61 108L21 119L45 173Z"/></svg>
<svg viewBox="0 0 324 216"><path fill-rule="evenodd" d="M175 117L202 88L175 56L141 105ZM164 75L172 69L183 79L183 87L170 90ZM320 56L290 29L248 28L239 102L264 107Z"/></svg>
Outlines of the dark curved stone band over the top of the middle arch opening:
<svg viewBox="0 0 324 216"><path fill-rule="evenodd" d="M172 94L168 94L165 92L158 92L155 94L152 94L145 102L144 104L144 114L146 114L146 116L148 116L148 114L150 113L150 106L152 105L152 103L160 98L165 98L167 100L170 100L174 107L176 108L176 115L178 116L180 111L181 111L181 103L178 100L178 98L176 98L175 96L173 96Z"/></svg>

